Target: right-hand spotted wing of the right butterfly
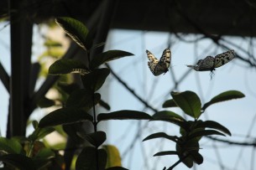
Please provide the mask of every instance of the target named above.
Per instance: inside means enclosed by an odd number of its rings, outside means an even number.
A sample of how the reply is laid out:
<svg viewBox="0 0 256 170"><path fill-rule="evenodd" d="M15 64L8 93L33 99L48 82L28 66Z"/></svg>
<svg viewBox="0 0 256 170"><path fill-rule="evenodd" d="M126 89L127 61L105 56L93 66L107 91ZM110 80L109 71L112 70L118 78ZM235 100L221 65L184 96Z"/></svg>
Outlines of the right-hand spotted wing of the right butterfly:
<svg viewBox="0 0 256 170"><path fill-rule="evenodd" d="M229 61L235 58L235 51L229 50L222 54L217 54L215 57L214 68L221 67L223 64L227 64Z"/></svg>

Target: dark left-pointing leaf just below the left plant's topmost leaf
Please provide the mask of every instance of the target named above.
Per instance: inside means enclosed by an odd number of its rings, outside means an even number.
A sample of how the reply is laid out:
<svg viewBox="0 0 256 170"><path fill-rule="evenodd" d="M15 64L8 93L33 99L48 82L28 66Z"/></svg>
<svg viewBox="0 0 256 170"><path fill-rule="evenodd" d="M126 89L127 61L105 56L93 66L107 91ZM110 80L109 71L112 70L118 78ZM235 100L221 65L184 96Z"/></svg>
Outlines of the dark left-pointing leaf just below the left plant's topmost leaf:
<svg viewBox="0 0 256 170"><path fill-rule="evenodd" d="M85 64L76 59L59 59L56 60L54 64L50 65L49 74L50 75L65 75L70 74L75 70L84 70L85 74L89 73L90 70L86 68Z"/></svg>

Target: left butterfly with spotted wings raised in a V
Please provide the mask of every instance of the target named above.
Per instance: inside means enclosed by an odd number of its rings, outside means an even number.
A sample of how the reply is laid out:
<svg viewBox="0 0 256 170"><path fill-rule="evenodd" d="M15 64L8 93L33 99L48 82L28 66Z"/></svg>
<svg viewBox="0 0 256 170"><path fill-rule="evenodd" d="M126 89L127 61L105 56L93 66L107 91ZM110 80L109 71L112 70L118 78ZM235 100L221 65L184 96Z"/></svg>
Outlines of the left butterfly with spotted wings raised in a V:
<svg viewBox="0 0 256 170"><path fill-rule="evenodd" d="M170 66L170 49L165 49L162 57L158 60L154 57L154 54L150 53L149 50L146 50L146 53L148 55L148 65L149 70L153 73L153 75L161 75L163 73L166 73L168 71L168 68Z"/></svg>

